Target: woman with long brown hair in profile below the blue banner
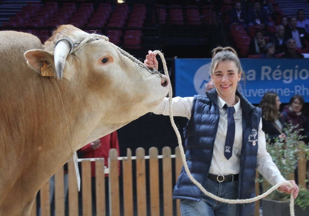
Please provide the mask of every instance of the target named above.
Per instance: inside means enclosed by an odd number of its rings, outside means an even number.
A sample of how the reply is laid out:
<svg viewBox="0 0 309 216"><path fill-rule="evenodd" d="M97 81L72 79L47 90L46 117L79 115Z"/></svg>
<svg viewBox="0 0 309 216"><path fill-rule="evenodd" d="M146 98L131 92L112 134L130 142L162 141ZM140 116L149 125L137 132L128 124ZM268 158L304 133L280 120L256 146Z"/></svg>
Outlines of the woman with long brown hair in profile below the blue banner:
<svg viewBox="0 0 309 216"><path fill-rule="evenodd" d="M282 132L283 119L279 111L280 104L281 101L277 93L266 92L259 105L262 109L262 130L268 134L272 143L276 138L285 138L285 134Z"/></svg>

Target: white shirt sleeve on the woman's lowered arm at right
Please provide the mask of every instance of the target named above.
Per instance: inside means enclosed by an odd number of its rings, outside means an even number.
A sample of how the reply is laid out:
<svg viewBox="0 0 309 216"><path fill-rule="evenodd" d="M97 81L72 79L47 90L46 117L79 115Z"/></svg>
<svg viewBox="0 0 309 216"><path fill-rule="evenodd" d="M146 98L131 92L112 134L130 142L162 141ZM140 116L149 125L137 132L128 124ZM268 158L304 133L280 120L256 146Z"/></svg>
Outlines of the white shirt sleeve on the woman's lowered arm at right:
<svg viewBox="0 0 309 216"><path fill-rule="evenodd" d="M272 157L266 150L265 133L262 131L262 120L258 127L258 150L257 150L257 170L271 184L277 185L282 181L286 181L281 175L278 167L272 161Z"/></svg>

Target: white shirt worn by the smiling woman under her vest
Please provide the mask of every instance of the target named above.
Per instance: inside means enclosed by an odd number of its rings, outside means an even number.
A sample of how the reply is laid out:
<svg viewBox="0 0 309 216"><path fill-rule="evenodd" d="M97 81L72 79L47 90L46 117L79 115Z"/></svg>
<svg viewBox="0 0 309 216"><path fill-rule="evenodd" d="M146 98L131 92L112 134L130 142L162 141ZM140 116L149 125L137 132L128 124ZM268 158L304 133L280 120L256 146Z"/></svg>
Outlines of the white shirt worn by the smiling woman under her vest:
<svg viewBox="0 0 309 216"><path fill-rule="evenodd" d="M237 97L237 96L236 96ZM224 104L222 98L218 96L218 106L219 106L219 125L216 134L213 158L211 161L211 166L209 173L211 174L238 174L239 173L239 163L240 163L240 153L242 146L242 108L240 106L239 98L237 97L238 103L234 105L235 113L235 139L233 144L232 157L227 160L224 157L224 143L227 133L227 114L226 110L222 109ZM172 110L174 116L182 116L190 119L191 110L193 105L193 97L174 97L172 103ZM164 98L159 108L154 111L155 114L169 115L169 100ZM257 150L257 170L264 176L264 178L272 185L276 185L281 181L285 181L283 176L280 174L277 166L272 161L272 157L266 150L266 139L265 133L262 131L262 120L260 121L258 128L258 150Z"/></svg>

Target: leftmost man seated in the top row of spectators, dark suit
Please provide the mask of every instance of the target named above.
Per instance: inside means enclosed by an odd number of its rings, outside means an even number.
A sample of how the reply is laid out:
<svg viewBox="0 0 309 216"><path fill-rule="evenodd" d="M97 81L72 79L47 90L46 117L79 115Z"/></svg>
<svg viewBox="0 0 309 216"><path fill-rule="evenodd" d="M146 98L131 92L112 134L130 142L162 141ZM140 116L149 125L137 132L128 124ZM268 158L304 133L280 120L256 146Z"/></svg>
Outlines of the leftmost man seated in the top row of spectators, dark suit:
<svg viewBox="0 0 309 216"><path fill-rule="evenodd" d="M244 10L240 2L235 2L234 8L229 14L230 25L241 25L243 28L248 31L247 26L247 11Z"/></svg>

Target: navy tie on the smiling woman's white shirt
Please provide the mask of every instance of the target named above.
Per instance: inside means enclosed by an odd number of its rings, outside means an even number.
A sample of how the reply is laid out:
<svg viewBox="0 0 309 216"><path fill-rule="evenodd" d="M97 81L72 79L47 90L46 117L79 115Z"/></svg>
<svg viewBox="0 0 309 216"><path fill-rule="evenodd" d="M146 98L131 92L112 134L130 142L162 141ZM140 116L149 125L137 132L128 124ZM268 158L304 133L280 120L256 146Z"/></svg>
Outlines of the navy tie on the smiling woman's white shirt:
<svg viewBox="0 0 309 216"><path fill-rule="evenodd" d="M224 156L226 159L230 159L230 157L232 157L233 143L235 138L235 120L233 116L235 109L233 106L228 106L226 108L226 112L228 114L228 129L224 145Z"/></svg>

